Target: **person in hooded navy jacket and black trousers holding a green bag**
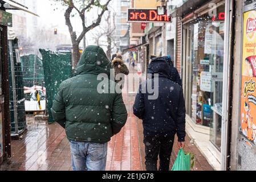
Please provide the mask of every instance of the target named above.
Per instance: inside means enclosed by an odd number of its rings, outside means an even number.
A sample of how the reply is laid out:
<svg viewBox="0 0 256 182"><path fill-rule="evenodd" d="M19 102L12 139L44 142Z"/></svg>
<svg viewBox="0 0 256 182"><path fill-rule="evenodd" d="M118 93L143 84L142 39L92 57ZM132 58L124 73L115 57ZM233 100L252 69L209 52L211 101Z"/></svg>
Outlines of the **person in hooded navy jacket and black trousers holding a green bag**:
<svg viewBox="0 0 256 182"><path fill-rule="evenodd" d="M158 74L140 85L133 113L143 119L145 164L149 171L157 170L157 158L160 158L159 170L169 170L174 135L178 136L178 148L185 146L185 102L180 85L170 80L170 65L159 57L151 61L148 73ZM157 82L158 85L155 85ZM152 85L152 88L148 88ZM150 86L151 87L151 86ZM150 100L148 90L159 88L158 98ZM146 89L147 88L147 89Z"/></svg>

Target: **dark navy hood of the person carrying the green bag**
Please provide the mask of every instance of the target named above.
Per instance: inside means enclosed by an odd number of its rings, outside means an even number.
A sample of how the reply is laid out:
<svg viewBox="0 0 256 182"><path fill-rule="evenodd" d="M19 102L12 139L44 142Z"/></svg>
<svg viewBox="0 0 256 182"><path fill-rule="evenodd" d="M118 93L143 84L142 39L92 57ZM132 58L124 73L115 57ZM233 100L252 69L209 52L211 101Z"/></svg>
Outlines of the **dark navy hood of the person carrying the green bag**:
<svg viewBox="0 0 256 182"><path fill-rule="evenodd" d="M156 57L148 65L148 73L158 73L159 77L170 79L170 64L168 64L164 57Z"/></svg>

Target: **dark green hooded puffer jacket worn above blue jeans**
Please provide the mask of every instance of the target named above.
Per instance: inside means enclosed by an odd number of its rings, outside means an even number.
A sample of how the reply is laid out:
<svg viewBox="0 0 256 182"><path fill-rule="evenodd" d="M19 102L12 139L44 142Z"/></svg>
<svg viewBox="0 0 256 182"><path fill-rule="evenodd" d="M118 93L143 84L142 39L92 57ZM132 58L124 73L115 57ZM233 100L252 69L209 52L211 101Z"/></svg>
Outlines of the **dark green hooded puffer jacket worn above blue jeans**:
<svg viewBox="0 0 256 182"><path fill-rule="evenodd" d="M51 112L54 121L64 123L68 139L105 143L125 125L127 110L122 95L97 92L100 73L108 76L109 85L110 82L115 84L109 80L111 68L103 49L88 46L75 69L75 76L60 84Z"/></svg>

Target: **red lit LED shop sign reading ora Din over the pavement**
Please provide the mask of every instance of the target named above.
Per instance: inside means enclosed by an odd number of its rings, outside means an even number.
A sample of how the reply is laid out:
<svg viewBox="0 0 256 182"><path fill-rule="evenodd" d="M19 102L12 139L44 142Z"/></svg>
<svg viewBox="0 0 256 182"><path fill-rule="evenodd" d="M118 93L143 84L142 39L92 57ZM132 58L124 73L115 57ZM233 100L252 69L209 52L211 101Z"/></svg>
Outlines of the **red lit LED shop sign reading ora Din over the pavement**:
<svg viewBox="0 0 256 182"><path fill-rule="evenodd" d="M128 9L127 22L170 22L170 16L158 15L156 9Z"/></svg>

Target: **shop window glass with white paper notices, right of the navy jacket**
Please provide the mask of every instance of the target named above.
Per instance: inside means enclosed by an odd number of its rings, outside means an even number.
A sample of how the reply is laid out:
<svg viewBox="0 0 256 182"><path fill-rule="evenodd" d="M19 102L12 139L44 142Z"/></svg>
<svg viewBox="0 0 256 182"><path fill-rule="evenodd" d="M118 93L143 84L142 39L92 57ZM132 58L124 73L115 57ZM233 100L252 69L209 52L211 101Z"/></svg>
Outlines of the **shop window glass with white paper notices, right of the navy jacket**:
<svg viewBox="0 0 256 182"><path fill-rule="evenodd" d="M220 6L217 13L224 10L225 6ZM220 148L225 20L216 17L206 15L189 23L192 51L187 55L191 57L187 72L192 81L190 116L198 125L210 127L210 140Z"/></svg>

